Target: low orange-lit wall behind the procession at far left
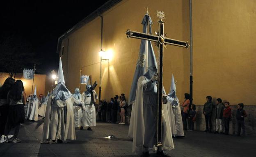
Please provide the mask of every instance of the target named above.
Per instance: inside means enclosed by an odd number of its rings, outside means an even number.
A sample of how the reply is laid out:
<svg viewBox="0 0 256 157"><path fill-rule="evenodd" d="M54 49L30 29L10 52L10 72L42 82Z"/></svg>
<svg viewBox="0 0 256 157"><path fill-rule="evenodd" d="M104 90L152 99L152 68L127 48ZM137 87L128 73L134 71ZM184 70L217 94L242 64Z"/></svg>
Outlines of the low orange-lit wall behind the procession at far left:
<svg viewBox="0 0 256 157"><path fill-rule="evenodd" d="M7 77L9 77L9 73L0 73L0 85L2 85L5 82ZM27 96L31 94L33 80L24 79L23 73L17 73L15 80L21 80L23 82L23 86ZM43 94L43 95L46 94L45 84L46 84L46 75L36 74L34 77L33 93L34 93L35 85L37 85L37 97L39 97L40 94Z"/></svg>

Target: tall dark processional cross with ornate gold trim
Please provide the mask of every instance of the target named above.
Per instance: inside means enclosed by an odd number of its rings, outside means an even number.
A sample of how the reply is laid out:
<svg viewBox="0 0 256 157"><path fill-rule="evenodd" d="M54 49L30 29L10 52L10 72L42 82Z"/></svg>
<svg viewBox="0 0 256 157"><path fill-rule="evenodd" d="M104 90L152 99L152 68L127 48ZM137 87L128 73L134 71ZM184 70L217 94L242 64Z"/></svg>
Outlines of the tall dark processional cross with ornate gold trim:
<svg viewBox="0 0 256 157"><path fill-rule="evenodd" d="M148 40L152 42L156 42L158 46L158 112L157 112L157 128L156 128L156 146L161 146L161 139L162 139L162 97L163 97L163 57L164 57L164 47L166 48L166 44L180 46L188 48L188 42L175 40L166 38L166 34L164 34L164 21L165 13L162 11L157 11L158 18L158 32L155 32L155 35L147 34L147 33L140 33L137 31L131 31L128 29L126 31L127 38L137 38L142 40Z"/></svg>

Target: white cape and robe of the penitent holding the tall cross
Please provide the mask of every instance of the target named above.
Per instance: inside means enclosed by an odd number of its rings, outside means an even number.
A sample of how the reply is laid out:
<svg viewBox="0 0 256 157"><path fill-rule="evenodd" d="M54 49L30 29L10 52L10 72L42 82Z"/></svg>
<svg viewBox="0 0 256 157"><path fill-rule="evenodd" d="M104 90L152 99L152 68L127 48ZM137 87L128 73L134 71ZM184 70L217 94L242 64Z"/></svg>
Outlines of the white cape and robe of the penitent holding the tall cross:
<svg viewBox="0 0 256 157"><path fill-rule="evenodd" d="M151 83L151 87L149 87L147 82L151 82L151 80L144 76L139 77L128 132L128 137L133 138L133 152L136 154L142 153L143 146L153 148L156 143L157 88L154 86L155 83ZM170 126L167 104L163 105L162 113L162 148L164 150L171 150L174 148L174 143L171 127L167 127Z"/></svg>

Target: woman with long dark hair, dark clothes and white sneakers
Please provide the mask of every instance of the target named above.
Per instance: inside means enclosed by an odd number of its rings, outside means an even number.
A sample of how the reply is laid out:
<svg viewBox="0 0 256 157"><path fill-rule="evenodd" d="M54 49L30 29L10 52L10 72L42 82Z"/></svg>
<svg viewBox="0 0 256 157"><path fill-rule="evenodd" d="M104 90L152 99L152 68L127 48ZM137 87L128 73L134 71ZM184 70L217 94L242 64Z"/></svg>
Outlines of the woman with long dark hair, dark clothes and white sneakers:
<svg viewBox="0 0 256 157"><path fill-rule="evenodd" d="M20 123L25 120L24 104L26 101L26 94L21 80L17 80L12 86L7 95L7 102L9 104L9 112L7 122L5 125L5 134L9 135L11 130L14 130L13 143L21 142L17 138L20 130Z"/></svg>

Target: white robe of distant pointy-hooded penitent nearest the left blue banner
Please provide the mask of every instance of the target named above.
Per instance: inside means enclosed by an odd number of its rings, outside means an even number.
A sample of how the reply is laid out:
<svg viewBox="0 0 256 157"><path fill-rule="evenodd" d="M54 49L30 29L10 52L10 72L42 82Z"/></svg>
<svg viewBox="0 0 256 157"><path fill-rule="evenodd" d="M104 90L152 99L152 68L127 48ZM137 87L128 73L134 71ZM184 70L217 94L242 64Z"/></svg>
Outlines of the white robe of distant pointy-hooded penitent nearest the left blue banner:
<svg viewBox="0 0 256 157"><path fill-rule="evenodd" d="M29 120L38 120L38 106L39 100L36 98L35 100L31 99L27 104L27 113L26 118Z"/></svg>

